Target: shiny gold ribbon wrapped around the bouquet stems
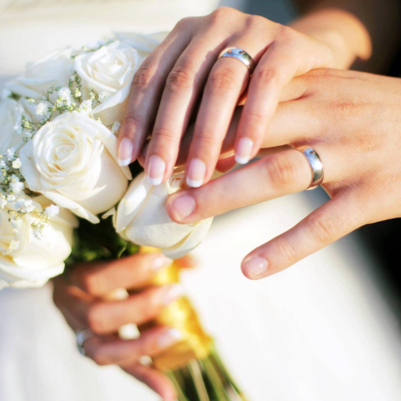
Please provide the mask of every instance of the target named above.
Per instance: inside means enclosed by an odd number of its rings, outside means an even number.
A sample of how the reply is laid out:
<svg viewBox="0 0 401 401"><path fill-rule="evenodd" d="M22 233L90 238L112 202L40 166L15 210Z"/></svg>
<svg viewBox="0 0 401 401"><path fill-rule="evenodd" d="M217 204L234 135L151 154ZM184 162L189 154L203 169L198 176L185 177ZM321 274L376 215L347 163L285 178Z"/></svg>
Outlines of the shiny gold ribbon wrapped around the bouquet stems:
<svg viewBox="0 0 401 401"><path fill-rule="evenodd" d="M140 253L156 252L160 252L160 250L152 247L140 247ZM164 286L178 283L180 270L181 267L173 262L160 270L148 284ZM211 352L213 340L203 330L194 308L186 297L178 298L163 308L151 325L174 327L183 335L180 342L152 358L154 366L162 371L184 367L190 360L204 359ZM140 326L139 330L149 326L149 324Z"/></svg>

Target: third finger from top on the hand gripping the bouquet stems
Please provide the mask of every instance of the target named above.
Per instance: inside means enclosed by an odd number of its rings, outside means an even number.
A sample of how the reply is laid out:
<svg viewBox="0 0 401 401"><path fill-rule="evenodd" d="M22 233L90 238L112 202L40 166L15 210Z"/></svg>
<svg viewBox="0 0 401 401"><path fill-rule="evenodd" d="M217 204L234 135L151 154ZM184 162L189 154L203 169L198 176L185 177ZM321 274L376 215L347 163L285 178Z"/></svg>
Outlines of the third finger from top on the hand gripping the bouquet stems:
<svg viewBox="0 0 401 401"><path fill-rule="evenodd" d="M135 340L94 336L83 343L83 348L98 365L127 365L144 355L155 356L181 339L181 332L175 328L156 327Z"/></svg>

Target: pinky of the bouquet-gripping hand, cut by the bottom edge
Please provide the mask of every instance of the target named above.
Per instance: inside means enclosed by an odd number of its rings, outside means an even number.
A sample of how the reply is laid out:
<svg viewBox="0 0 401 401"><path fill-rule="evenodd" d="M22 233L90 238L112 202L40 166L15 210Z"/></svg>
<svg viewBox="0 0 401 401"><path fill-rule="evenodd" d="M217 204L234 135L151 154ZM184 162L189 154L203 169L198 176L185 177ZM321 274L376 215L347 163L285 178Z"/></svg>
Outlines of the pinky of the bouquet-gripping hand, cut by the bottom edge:
<svg viewBox="0 0 401 401"><path fill-rule="evenodd" d="M162 372L143 365L132 365L122 367L128 374L145 383L153 391L156 391L163 401L175 401L177 393L173 383Z"/></svg>

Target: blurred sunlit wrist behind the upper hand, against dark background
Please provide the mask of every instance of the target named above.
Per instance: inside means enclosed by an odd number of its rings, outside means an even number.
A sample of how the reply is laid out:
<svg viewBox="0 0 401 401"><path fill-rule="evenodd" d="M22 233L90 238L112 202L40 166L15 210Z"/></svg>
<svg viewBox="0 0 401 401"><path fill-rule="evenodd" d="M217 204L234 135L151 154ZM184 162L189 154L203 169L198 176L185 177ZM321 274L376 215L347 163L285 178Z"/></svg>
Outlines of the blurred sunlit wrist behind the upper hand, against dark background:
<svg viewBox="0 0 401 401"><path fill-rule="evenodd" d="M315 10L290 24L298 32L326 44L333 52L333 65L344 69L359 57L369 59L372 52L369 32L362 22L340 9Z"/></svg>

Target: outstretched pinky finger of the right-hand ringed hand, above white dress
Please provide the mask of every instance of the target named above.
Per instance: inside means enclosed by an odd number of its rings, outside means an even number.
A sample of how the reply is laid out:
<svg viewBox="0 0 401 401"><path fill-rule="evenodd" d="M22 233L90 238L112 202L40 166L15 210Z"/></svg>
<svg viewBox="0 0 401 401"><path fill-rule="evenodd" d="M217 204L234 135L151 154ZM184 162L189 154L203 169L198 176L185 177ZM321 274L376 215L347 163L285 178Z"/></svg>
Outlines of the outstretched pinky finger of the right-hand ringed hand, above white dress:
<svg viewBox="0 0 401 401"><path fill-rule="evenodd" d="M292 229L249 253L241 263L243 274L260 279L290 267L364 224L353 193L338 194Z"/></svg>

